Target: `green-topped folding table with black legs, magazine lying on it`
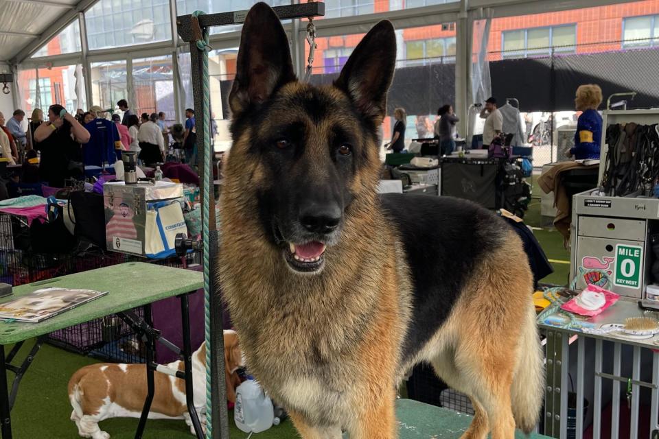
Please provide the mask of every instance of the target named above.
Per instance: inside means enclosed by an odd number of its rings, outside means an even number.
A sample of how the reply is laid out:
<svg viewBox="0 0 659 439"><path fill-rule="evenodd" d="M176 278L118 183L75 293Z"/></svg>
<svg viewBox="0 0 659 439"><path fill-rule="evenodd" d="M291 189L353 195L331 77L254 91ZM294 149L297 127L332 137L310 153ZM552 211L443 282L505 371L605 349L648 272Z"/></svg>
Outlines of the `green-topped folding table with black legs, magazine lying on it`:
<svg viewBox="0 0 659 439"><path fill-rule="evenodd" d="M29 283L14 288L14 294L3 302L17 296L30 294L36 289L47 287L65 287L80 289L95 289L107 291L108 294L97 298L78 308L65 311L59 316L43 320L39 323L2 322L0 321L0 424L2 439L12 438L10 412L21 378L32 363L34 355L41 348L44 335L71 327L74 324L89 322L111 314L117 314L141 334L146 345L146 364L148 394L143 406L142 415L137 427L135 438L141 438L146 419L150 411L154 394L154 371L158 364L154 361L155 344L163 342L172 350L183 356L185 371L179 371L176 377L185 381L186 400L189 414L196 431L197 438L203 438L193 403L192 392L192 346L190 346L188 294L203 287L203 276L200 272L180 268L163 267L150 263L123 263L111 267L99 268L88 272L69 274ZM151 303L157 300L177 296L181 299L181 320L183 323L183 350L160 338L159 332L151 326ZM0 302L1 306L1 302ZM144 318L129 311L132 308L144 307ZM36 342L27 358L20 366L11 364L25 340L36 338ZM14 344L12 351L5 356L4 346ZM12 384L11 394L8 389L7 370L14 372L16 377Z"/></svg>

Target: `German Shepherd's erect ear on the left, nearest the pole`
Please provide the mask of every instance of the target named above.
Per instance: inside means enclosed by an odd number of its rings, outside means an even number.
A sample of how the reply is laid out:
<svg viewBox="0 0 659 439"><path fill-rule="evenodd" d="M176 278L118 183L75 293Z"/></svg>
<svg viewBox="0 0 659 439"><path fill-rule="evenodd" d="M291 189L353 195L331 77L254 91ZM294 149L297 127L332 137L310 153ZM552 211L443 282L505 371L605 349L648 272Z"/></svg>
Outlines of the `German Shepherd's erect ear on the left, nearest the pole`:
<svg viewBox="0 0 659 439"><path fill-rule="evenodd" d="M240 36L235 80L229 95L233 117L261 104L280 86L295 80L284 27L270 6L256 3Z"/></svg>

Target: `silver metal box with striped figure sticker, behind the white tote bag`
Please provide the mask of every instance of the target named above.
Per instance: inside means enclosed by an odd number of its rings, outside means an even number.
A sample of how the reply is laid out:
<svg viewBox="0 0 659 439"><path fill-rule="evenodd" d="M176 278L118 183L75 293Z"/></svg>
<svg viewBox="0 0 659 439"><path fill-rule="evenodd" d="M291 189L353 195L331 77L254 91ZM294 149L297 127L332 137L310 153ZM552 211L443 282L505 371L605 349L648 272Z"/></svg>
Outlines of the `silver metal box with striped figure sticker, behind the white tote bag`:
<svg viewBox="0 0 659 439"><path fill-rule="evenodd" d="M107 249L146 257L147 211L163 202L183 202L180 183L108 182L103 185Z"/></svg>

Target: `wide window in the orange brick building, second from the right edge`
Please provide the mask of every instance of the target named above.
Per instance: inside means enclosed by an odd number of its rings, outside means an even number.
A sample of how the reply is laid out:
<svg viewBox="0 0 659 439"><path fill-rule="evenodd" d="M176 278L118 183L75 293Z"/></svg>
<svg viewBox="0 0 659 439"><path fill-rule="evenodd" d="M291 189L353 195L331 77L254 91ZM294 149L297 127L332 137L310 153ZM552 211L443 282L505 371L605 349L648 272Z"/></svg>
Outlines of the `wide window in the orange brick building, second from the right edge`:
<svg viewBox="0 0 659 439"><path fill-rule="evenodd" d="M535 27L502 32L504 58L547 56L555 52L575 53L577 25Z"/></svg>

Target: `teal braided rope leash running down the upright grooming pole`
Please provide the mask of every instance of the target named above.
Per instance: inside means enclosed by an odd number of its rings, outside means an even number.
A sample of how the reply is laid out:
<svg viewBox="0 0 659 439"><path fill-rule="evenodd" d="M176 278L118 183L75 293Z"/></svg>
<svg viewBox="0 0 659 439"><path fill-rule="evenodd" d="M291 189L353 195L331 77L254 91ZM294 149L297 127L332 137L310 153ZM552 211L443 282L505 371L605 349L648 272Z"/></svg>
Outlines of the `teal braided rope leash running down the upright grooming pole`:
<svg viewBox="0 0 659 439"><path fill-rule="evenodd" d="M208 44L209 30L207 28L201 29L199 26L198 16L203 15L204 12L195 11L192 13L192 32L196 40L196 47L201 52L203 60L203 75L202 93L203 93L203 128L204 128L204 167L205 172L212 172L212 157L213 151L209 147L211 144L211 96L209 91L209 73L208 73L208 52L211 47ZM209 285L209 278L211 276L210 261L209 261L209 205L210 205L210 182L207 175L203 178L203 209L202 211L202 240L204 251L204 335L206 340L206 439L213 438L213 420L212 404L211 404L211 292Z"/></svg>

